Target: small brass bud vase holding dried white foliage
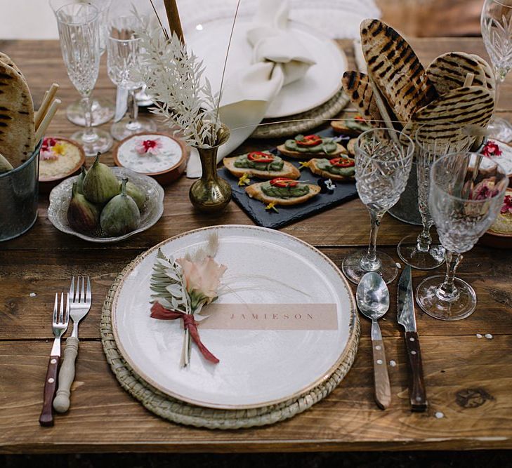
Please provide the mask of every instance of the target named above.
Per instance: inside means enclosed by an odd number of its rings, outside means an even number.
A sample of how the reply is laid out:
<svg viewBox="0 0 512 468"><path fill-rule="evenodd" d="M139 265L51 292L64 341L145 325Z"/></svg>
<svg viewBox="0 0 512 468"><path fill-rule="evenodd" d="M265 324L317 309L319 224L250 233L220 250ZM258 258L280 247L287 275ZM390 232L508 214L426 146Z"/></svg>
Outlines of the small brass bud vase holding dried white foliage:
<svg viewBox="0 0 512 468"><path fill-rule="evenodd" d="M201 160L202 175L190 187L188 196L192 205L205 213L220 213L231 200L231 187L223 178L217 174L217 152L218 148L228 141L230 131L223 125L217 132L216 145L199 148L199 159Z"/></svg>

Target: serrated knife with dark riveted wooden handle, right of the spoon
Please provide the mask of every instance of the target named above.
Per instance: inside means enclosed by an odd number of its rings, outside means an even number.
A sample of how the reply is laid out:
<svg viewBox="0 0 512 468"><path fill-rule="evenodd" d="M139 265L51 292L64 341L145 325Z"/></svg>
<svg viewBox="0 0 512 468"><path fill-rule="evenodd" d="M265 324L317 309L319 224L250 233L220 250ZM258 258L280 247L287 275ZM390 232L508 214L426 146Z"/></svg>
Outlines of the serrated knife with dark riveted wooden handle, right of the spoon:
<svg viewBox="0 0 512 468"><path fill-rule="evenodd" d="M409 379L409 398L411 410L425 411L428 406L421 362L418 333L416 332L416 316L414 315L414 293L412 292L412 272L407 265L398 281L398 323L405 328L405 349L411 366Z"/></svg>

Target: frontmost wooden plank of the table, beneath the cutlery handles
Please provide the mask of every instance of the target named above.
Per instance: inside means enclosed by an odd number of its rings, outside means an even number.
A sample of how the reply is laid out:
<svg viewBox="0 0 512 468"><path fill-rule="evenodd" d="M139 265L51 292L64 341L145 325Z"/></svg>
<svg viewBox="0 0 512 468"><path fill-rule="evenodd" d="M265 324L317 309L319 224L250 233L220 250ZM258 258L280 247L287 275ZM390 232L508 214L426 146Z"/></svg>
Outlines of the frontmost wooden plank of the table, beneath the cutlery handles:
<svg viewBox="0 0 512 468"><path fill-rule="evenodd" d="M397 363L389 368L392 403L388 410L378 410L373 401L369 389L371 342L362 337L353 369L327 399L270 427L222 432L170 424L147 412L119 387L99 342L81 345L70 412L57 415L53 428L41 429L37 419L50 345L1 342L0 447L6 452L214 452L442 450L509 445L512 362L503 350L512 346L510 335L493 340L423 337L431 405L427 413L409 411L402 338L385 337L384 343L388 359Z"/></svg>

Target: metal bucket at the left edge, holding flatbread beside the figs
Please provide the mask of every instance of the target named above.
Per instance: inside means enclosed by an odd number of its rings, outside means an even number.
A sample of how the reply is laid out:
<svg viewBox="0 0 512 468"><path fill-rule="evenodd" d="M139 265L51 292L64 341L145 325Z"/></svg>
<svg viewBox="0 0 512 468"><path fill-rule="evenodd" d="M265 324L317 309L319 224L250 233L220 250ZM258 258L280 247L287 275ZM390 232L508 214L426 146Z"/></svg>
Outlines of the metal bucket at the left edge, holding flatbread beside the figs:
<svg viewBox="0 0 512 468"><path fill-rule="evenodd" d="M20 167L0 174L0 241L25 234L36 222L41 144Z"/></svg>

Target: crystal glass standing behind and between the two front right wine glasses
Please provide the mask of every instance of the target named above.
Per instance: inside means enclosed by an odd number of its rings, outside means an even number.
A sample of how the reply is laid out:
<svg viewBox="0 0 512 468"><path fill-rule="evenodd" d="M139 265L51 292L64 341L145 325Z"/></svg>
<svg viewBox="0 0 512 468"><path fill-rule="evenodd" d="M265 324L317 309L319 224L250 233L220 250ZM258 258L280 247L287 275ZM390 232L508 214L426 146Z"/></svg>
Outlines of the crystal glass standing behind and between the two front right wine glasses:
<svg viewBox="0 0 512 468"><path fill-rule="evenodd" d="M452 152L467 151L475 137L465 136L460 126L447 127L437 138L428 126L420 126L415 133L414 149L416 175L418 180L418 208L423 229L419 236L409 234L398 244L398 256L407 265L416 269L433 269L445 262L445 249L433 242L431 228L434 224L428 210L428 191L432 164L442 156Z"/></svg>

